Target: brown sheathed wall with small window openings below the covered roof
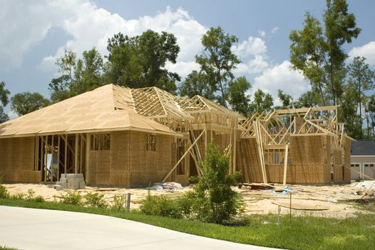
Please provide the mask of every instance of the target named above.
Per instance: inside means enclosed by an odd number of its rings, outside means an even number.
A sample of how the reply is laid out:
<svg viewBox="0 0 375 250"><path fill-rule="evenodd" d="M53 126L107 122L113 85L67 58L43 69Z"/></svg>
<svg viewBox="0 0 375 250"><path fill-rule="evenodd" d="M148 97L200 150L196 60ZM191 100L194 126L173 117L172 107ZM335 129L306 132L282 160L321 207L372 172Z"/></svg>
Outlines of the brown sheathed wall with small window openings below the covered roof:
<svg viewBox="0 0 375 250"><path fill-rule="evenodd" d="M174 165L173 136L153 134L156 151L147 151L148 133L115 131L111 134L111 150L88 153L86 179L90 184L153 184L160 182Z"/></svg>

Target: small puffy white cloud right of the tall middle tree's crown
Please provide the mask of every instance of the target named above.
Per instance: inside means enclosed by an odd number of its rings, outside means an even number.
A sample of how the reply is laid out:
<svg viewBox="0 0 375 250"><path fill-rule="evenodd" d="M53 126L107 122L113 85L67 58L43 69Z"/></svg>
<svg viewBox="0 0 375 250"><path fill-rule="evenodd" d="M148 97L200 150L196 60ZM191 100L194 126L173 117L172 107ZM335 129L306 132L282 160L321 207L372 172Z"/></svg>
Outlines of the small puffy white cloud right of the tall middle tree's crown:
<svg viewBox="0 0 375 250"><path fill-rule="evenodd" d="M231 49L234 54L242 58L265 54L267 52L267 46L264 40L254 36L249 36L247 40L232 46Z"/></svg>

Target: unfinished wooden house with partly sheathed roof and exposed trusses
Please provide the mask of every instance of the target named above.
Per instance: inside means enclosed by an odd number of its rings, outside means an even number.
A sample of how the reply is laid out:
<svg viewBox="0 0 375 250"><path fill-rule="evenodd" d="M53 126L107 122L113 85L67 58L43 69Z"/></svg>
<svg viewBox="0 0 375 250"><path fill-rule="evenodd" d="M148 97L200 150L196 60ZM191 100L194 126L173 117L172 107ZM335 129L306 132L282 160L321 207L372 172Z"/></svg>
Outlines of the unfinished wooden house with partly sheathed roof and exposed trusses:
<svg viewBox="0 0 375 250"><path fill-rule="evenodd" d="M88 184L187 184L213 142L246 182L339 183L350 180L349 140L337 106L246 119L202 96L108 84L0 124L0 172L6 182L75 173Z"/></svg>

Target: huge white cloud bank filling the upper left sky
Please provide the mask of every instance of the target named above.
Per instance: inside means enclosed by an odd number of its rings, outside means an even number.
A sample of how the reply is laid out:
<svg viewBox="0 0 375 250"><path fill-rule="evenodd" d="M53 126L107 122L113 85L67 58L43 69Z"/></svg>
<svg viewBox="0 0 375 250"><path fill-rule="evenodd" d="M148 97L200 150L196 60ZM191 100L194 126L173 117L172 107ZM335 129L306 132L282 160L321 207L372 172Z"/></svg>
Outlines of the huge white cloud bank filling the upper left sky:
<svg viewBox="0 0 375 250"><path fill-rule="evenodd" d="M127 20L88 0L37 3L0 0L0 3L0 66L9 69L20 66L23 54L43 41L53 27L63 29L71 39L54 54L46 56L39 69L56 70L54 62L65 50L79 55L95 46L101 54L106 54L107 40L113 34L135 36L147 29L175 34L180 46L178 61L194 61L195 54L202 50L202 34L207 31L187 11L173 11L169 7L155 16Z"/></svg>

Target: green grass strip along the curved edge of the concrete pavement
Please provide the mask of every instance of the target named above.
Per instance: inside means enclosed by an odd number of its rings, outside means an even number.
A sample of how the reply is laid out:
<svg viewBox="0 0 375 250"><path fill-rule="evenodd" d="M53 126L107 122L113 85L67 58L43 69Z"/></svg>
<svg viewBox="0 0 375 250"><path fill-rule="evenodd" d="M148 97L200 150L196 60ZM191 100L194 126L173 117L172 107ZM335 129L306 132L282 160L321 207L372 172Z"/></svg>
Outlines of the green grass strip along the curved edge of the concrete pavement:
<svg viewBox="0 0 375 250"><path fill-rule="evenodd" d="M159 216L147 216L136 212L124 213L56 202L0 199L0 205L22 206L35 209L77 211L115 216L140 221L188 234L243 244L269 246L283 249L374 249L375 214L359 214L356 218L333 219L312 216L282 217L277 226L276 216L251 216L249 226L221 226L199 221L186 221ZM374 210L373 210L374 211ZM264 223L267 221L267 223Z"/></svg>

